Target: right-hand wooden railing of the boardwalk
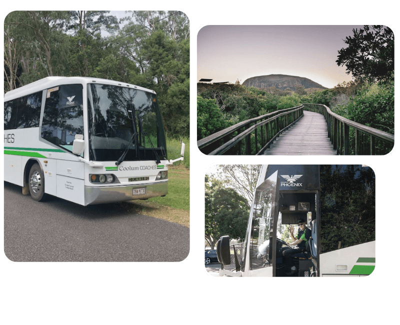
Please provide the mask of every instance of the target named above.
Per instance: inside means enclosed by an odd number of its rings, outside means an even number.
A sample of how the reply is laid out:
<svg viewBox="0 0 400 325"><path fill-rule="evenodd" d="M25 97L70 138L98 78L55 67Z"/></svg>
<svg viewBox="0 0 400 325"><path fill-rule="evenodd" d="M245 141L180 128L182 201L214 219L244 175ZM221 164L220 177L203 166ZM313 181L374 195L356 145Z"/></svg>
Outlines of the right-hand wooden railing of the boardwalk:
<svg viewBox="0 0 400 325"><path fill-rule="evenodd" d="M328 137L337 154L386 154L394 145L394 135L356 123L332 112L322 104L304 103L304 109L325 117Z"/></svg>

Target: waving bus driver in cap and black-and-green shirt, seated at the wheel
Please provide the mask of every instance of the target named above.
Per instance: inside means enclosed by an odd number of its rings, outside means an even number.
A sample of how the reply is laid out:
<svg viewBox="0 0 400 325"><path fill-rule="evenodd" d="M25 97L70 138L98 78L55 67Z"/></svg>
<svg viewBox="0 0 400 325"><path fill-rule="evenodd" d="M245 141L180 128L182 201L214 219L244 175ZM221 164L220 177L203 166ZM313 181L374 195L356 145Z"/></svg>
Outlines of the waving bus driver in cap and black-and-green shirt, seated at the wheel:
<svg viewBox="0 0 400 325"><path fill-rule="evenodd" d="M287 275L292 275L296 272L296 267L291 260L291 255L303 252L307 245L307 240L311 236L311 230L305 226L304 219L298 219L297 225L297 239L293 236L294 227L290 225L289 233L293 242L287 242L287 246L280 248L280 252L283 254L286 262L286 267L289 269L289 271L286 272Z"/></svg>

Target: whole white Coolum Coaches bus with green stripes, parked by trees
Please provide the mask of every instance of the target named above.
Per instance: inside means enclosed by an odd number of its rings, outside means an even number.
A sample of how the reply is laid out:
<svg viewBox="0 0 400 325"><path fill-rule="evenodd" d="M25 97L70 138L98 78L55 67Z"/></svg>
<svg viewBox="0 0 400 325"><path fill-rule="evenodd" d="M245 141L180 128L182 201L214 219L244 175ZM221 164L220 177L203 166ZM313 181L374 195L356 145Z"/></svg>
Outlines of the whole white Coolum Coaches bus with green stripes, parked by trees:
<svg viewBox="0 0 400 325"><path fill-rule="evenodd" d="M4 180L40 201L81 205L167 193L155 91L87 77L46 77L4 95Z"/></svg>

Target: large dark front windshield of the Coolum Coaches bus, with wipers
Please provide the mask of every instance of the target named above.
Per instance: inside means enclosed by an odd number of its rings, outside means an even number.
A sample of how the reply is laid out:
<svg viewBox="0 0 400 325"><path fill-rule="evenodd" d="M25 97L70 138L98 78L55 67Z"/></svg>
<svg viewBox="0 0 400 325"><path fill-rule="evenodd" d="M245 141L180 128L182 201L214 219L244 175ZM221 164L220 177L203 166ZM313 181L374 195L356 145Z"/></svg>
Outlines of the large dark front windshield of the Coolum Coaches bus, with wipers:
<svg viewBox="0 0 400 325"><path fill-rule="evenodd" d="M166 159L156 95L121 86L87 87L90 160Z"/></svg>

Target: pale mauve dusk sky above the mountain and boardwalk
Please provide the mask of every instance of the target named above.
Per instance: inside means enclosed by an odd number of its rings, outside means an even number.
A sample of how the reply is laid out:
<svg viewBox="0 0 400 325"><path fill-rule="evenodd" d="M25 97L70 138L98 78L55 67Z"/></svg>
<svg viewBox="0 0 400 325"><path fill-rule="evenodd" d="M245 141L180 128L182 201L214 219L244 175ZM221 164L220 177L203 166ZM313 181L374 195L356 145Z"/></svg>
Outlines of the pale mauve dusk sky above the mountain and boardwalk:
<svg viewBox="0 0 400 325"><path fill-rule="evenodd" d="M197 29L196 81L240 83L249 77L288 74L332 88L352 80L338 66L343 39L363 25L205 24Z"/></svg>

